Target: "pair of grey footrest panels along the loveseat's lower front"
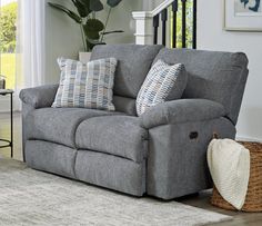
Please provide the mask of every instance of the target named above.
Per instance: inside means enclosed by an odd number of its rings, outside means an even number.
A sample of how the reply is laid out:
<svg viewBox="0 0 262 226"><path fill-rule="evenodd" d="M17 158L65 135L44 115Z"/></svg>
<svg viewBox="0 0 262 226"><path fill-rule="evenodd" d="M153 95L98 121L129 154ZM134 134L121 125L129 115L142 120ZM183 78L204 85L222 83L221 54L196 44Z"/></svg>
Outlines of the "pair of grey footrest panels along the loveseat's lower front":
<svg viewBox="0 0 262 226"><path fill-rule="evenodd" d="M62 145L27 140L29 167L78 179L133 196L145 193L145 164L92 150L75 150Z"/></svg>

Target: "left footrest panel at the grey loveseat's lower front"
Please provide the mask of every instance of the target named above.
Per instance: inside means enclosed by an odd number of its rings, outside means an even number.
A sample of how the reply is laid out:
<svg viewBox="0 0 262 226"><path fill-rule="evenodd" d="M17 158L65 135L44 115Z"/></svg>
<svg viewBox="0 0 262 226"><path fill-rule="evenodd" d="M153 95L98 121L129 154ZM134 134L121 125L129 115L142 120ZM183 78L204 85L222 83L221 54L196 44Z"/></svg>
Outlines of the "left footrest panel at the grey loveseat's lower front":
<svg viewBox="0 0 262 226"><path fill-rule="evenodd" d="M27 164L30 167L75 178L77 150L40 140L28 140L26 146Z"/></svg>

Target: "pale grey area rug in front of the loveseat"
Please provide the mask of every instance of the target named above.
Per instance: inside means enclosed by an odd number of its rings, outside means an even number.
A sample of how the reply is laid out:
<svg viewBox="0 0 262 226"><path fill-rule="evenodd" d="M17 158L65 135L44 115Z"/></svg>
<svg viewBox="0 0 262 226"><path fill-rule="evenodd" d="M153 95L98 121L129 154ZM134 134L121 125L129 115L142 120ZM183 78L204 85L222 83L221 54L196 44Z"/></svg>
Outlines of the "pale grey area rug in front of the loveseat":
<svg viewBox="0 0 262 226"><path fill-rule="evenodd" d="M180 203L135 198L0 159L1 226L193 226L229 219Z"/></svg>

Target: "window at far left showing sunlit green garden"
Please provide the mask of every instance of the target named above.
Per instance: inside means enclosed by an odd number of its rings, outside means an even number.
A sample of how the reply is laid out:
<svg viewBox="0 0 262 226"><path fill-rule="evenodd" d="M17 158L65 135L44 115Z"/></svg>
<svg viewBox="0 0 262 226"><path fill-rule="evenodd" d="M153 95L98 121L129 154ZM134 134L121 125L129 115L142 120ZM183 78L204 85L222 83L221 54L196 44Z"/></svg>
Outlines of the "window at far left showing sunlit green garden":
<svg viewBox="0 0 262 226"><path fill-rule="evenodd" d="M10 89L16 86L17 10L17 0L0 0L0 75Z"/></svg>

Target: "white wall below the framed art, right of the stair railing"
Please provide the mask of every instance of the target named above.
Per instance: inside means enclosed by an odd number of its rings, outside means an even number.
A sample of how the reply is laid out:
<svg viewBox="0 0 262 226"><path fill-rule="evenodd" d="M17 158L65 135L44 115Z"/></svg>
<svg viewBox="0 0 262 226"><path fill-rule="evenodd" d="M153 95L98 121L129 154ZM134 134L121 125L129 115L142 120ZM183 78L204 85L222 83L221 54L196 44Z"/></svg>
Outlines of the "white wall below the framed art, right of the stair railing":
<svg viewBox="0 0 262 226"><path fill-rule="evenodd" d="M198 48L243 51L250 76L238 124L238 137L262 141L262 32L230 32L223 29L223 0L198 1Z"/></svg>

